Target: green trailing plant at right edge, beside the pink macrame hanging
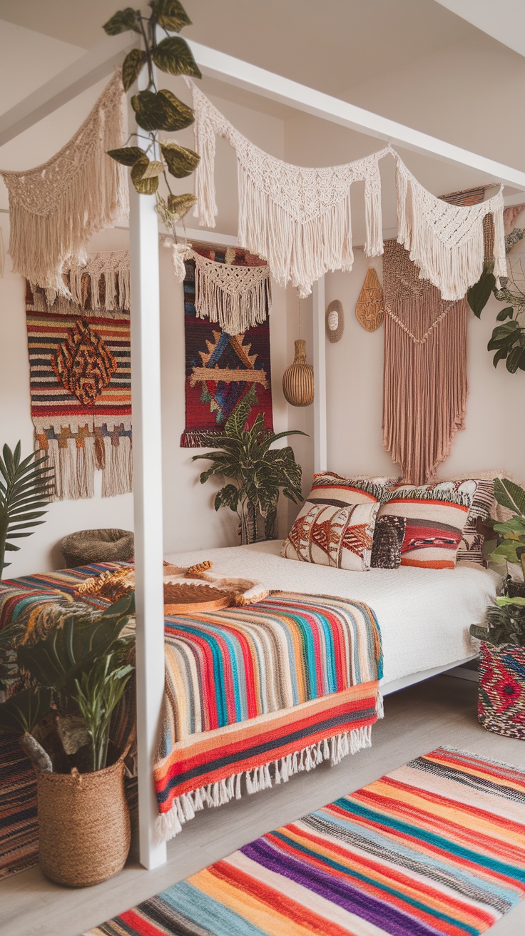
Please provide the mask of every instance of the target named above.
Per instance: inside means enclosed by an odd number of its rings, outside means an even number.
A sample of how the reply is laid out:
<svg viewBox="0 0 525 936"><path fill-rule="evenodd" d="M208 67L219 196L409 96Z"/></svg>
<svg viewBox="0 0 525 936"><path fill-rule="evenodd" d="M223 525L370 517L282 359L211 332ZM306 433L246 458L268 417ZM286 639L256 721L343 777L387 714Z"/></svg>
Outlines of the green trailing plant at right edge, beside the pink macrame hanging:
<svg viewBox="0 0 525 936"><path fill-rule="evenodd" d="M505 253L510 254L524 237L525 227L515 227L505 238ZM496 316L502 324L492 331L487 349L495 352L492 358L494 367L504 360L509 373L525 371L525 271L521 271L524 274L522 288L511 277L501 289L496 289L492 267L486 264L481 279L467 293L476 318L480 318L492 294L499 302L505 303L504 309Z"/></svg>

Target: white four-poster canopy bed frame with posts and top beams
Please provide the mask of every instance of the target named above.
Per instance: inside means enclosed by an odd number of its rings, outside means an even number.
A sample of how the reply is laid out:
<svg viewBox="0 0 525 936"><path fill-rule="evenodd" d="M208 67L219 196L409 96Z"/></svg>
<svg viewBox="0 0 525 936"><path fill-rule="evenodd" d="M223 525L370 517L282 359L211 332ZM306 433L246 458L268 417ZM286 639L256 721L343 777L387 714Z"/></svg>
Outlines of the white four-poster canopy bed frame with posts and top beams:
<svg viewBox="0 0 525 936"><path fill-rule="evenodd" d="M106 37L77 62L68 66L36 93L24 98L0 117L0 146L57 110L97 81L109 76L124 54L135 46L129 34ZM190 42L198 66L211 77L268 97L289 107L341 124L376 139L400 145L416 153L467 166L484 179L518 190L507 204L525 200L525 172L470 153L444 140L395 121L387 120L346 101L242 62L224 52ZM139 845L140 861L153 869L167 858L166 843L154 837L158 814L153 793L152 764L156 729L164 695L164 607L162 576L162 476L160 423L160 328L158 278L158 219L152 197L138 196L130 187L129 220L131 256L132 403L134 452L135 555L137 562L137 709L139 745ZM189 232L190 237L197 232ZM202 238L203 231L197 236ZM388 232L391 236L392 232ZM225 238L206 232L206 239ZM227 241L226 241L227 242ZM327 395L325 372L325 285L314 285L314 469L327 467ZM468 662L472 657L458 661ZM392 693L426 680L446 666L388 683ZM468 672L468 671L467 671Z"/></svg>

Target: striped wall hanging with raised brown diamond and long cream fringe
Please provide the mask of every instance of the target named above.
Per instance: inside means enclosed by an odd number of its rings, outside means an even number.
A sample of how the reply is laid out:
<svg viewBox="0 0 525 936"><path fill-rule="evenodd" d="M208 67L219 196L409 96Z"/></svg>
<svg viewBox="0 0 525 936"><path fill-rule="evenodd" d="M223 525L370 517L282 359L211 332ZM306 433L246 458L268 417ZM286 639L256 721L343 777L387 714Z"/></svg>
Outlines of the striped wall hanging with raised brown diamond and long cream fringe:
<svg viewBox="0 0 525 936"><path fill-rule="evenodd" d="M36 312L27 286L31 417L36 449L49 455L59 500L132 490L129 317Z"/></svg>

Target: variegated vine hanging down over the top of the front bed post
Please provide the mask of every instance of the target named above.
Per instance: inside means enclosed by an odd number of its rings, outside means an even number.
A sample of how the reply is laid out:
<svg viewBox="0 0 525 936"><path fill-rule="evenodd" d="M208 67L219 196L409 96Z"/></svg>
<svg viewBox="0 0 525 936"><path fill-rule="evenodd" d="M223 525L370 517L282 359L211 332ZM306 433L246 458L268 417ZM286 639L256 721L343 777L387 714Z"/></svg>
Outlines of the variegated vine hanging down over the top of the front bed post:
<svg viewBox="0 0 525 936"><path fill-rule="evenodd" d="M194 112L168 88L157 88L153 66L169 75L202 76L187 42L178 35L172 35L191 25L179 0L151 0L150 7L149 17L142 16L140 10L125 7L104 25L109 36L131 30L142 37L144 48L132 49L124 58L124 90L129 91L143 68L148 70L147 87L131 98L137 123L145 134L132 134L130 138L146 139L147 145L144 148L126 145L118 150L109 150L109 156L131 168L131 181L140 195L156 197L156 210L177 240L175 225L182 221L197 198L190 194L175 195L171 191L169 176L184 179L191 175L197 168L199 156L160 134L190 126L194 122ZM157 41L157 26L166 34L160 41ZM159 192L161 177L168 188L167 197Z"/></svg>

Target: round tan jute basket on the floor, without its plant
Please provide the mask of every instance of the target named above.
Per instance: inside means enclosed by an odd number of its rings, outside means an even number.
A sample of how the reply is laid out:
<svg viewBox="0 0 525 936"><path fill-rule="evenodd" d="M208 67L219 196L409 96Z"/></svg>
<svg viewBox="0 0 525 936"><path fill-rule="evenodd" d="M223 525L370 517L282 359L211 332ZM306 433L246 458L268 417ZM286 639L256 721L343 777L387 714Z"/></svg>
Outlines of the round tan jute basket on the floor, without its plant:
<svg viewBox="0 0 525 936"><path fill-rule="evenodd" d="M124 868L129 811L124 757L94 773L36 771L40 867L56 884L88 887Z"/></svg>

